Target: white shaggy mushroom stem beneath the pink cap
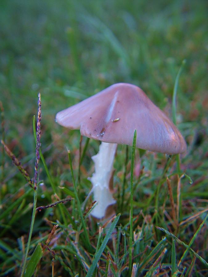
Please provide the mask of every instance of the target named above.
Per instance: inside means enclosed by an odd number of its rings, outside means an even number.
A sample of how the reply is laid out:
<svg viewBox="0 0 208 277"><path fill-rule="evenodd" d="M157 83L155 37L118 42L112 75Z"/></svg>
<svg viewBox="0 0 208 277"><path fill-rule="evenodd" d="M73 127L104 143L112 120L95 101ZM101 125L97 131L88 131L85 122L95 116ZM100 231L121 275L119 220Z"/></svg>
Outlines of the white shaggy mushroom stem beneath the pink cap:
<svg viewBox="0 0 208 277"><path fill-rule="evenodd" d="M116 200L112 197L109 183L113 173L113 160L116 153L116 143L102 142L97 155L92 156L95 163L95 173L89 180L92 183L92 192L96 206L91 212L96 218L103 218L109 205L115 204Z"/></svg>

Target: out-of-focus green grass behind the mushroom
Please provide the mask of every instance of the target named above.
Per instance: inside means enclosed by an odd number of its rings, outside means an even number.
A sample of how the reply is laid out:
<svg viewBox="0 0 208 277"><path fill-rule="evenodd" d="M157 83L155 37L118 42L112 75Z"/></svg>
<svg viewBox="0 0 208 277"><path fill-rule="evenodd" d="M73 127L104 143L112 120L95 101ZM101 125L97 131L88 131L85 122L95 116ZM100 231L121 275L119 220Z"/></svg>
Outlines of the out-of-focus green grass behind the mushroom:
<svg viewBox="0 0 208 277"><path fill-rule="evenodd" d="M64 130L55 123L56 112L113 83L130 82L140 86L171 117L175 78L186 59L177 92L177 124L188 145L187 153L182 155L181 171L193 179L193 184L187 179L183 181L183 207L186 211L182 212L181 219L205 207L208 108L206 1L1 0L0 26L0 100L5 118L5 133L2 128L1 137L5 135L6 143L26 165L32 177L35 157L32 117L37 113L37 94L40 91L42 151L56 186L66 185L66 179L71 178L66 146L72 151L76 174L80 141L79 131ZM91 187L87 180L93 172L90 157L98 146L98 142L90 141L81 168L81 201ZM122 179L124 152L120 146L118 162L114 165L116 188ZM141 168L138 160L137 166ZM24 187L25 181L10 159L4 156L3 149L1 161L4 210L10 203L9 197L12 199L12 194ZM134 205L138 213L141 207L145 207L145 215L148 215L154 213L154 203L151 207L145 205L157 188L165 157L146 153L141 163L145 166L145 173ZM174 166L171 172L174 172ZM40 179L44 186L39 192L39 205L51 203L52 191L43 169L40 170ZM156 183L151 180L156 180ZM70 182L67 185L70 186ZM160 207L166 192L161 197ZM61 195L63 198L66 196L64 193ZM14 222L12 230L7 233L9 244L12 241L16 245L16 239L27 235L31 219L28 204L31 201L32 193L26 199L25 214L19 216L18 223ZM128 211L124 214L128 215ZM59 218L58 209L55 213L51 214L51 220ZM44 216L47 215L49 212ZM200 222L195 222L191 230L183 230L184 238L186 232L191 238ZM5 219L3 223L8 221ZM42 215L37 215L35 231L45 230L48 227L43 223ZM203 243L198 245L202 247Z"/></svg>

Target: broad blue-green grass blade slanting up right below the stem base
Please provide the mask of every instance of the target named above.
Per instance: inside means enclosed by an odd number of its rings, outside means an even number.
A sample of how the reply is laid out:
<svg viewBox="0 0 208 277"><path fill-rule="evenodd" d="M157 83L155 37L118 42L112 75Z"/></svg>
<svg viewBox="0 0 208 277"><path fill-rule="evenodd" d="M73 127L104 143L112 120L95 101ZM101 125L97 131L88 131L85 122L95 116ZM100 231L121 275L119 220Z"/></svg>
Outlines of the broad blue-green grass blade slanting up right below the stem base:
<svg viewBox="0 0 208 277"><path fill-rule="evenodd" d="M116 216L116 218L113 220L113 222L112 222L110 228L108 229L108 232L107 232L107 234L105 235L104 240L103 240L103 242L101 243L100 248L99 248L99 250L97 251L97 254L95 255L95 258L94 258L93 261L92 261L92 264L91 264L91 266L90 266L90 268L89 268L89 270L88 270L88 273L87 273L86 277L92 276L93 271L94 271L95 268L96 268L96 264L97 264L97 262L99 261L101 255L102 255L102 253L103 253L103 251L104 251L104 249L105 249L105 247L106 247L106 244L108 243L108 240L110 239L110 236L112 235L112 232L113 232L114 228L116 227L116 224L117 224L117 222L118 222L118 220L119 220L119 217L120 217L120 214L118 214L118 215Z"/></svg>

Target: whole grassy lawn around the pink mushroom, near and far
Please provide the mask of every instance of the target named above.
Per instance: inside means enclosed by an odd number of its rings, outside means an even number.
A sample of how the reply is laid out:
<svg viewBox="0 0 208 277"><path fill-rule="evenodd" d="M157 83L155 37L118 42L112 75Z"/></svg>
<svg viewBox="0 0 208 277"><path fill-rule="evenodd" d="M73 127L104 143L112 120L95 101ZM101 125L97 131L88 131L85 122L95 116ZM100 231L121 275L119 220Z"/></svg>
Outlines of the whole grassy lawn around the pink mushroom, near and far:
<svg viewBox="0 0 208 277"><path fill-rule="evenodd" d="M0 276L21 275L26 248L24 276L205 276L206 2L3 0L0 6L0 139L14 155L0 147ZM97 222L89 215L92 196L85 199L99 142L54 118L116 82L140 86L172 117L188 149L168 157L136 148L133 157L132 147L118 146L116 215ZM36 196L37 207L49 207L32 217L39 91Z"/></svg>

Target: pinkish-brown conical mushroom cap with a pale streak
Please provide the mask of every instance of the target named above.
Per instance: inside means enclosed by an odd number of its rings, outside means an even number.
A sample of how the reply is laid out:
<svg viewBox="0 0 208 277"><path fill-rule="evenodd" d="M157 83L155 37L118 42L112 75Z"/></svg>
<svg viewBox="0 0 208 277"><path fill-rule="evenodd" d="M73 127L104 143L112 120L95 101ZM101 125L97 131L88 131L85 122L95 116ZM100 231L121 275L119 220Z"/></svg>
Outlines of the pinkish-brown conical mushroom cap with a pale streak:
<svg viewBox="0 0 208 277"><path fill-rule="evenodd" d="M178 154L186 142L173 122L137 86L117 83L56 114L56 122L80 129L88 138L107 143L132 145L141 149Z"/></svg>

